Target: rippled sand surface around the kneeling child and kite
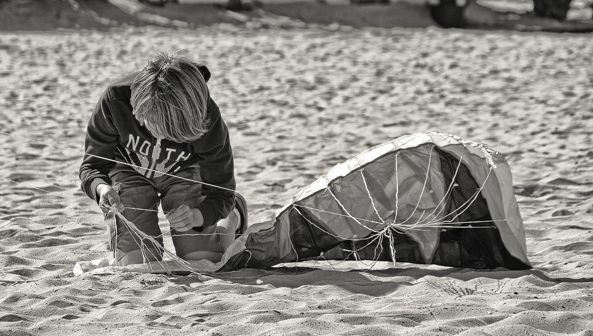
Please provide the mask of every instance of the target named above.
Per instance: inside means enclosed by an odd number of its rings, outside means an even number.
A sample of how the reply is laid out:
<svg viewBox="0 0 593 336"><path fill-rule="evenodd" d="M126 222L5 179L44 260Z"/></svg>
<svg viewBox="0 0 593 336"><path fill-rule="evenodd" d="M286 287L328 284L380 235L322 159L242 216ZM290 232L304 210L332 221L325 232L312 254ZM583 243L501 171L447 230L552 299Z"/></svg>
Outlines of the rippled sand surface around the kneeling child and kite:
<svg viewBox="0 0 593 336"><path fill-rule="evenodd" d="M0 177L79 201L0 180L0 334L593 335L592 37L225 24L1 33L0 130L67 149L0 135ZM79 191L88 117L107 84L169 45L212 71L252 222L369 146L441 130L507 156L533 270L320 260L75 277L76 261L110 255L100 210Z"/></svg>

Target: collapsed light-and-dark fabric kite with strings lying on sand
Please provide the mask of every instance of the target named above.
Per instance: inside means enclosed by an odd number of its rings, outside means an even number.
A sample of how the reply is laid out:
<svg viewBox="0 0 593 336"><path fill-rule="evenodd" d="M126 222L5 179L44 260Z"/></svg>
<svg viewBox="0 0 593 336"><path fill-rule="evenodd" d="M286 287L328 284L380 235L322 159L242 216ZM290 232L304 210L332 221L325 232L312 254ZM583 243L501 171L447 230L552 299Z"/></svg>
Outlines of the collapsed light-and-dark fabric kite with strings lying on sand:
<svg viewBox="0 0 593 336"><path fill-rule="evenodd" d="M169 260L138 265L79 261L74 273L203 274L320 256L531 267L506 159L482 143L442 132L401 136L337 164L271 220L249 225L219 263L183 261L167 252Z"/></svg>

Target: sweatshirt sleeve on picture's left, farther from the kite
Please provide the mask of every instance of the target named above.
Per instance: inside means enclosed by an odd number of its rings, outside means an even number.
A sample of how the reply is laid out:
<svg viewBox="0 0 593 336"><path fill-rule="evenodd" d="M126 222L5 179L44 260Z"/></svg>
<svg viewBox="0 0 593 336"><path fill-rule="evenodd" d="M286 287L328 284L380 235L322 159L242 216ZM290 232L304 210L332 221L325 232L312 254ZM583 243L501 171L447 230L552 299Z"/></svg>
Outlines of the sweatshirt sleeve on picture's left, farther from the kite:
<svg viewBox="0 0 593 336"><path fill-rule="evenodd" d="M114 126L109 102L108 88L101 95L91 119L88 121L87 136L84 141L85 156L82 159L79 171L81 189L93 200L96 200L95 189L97 185L101 183L111 185L108 174L116 165L113 161L91 156L114 158L119 133Z"/></svg>

